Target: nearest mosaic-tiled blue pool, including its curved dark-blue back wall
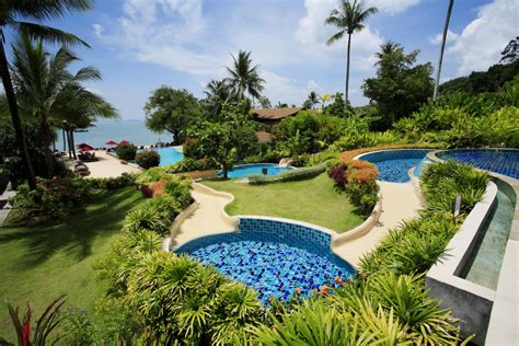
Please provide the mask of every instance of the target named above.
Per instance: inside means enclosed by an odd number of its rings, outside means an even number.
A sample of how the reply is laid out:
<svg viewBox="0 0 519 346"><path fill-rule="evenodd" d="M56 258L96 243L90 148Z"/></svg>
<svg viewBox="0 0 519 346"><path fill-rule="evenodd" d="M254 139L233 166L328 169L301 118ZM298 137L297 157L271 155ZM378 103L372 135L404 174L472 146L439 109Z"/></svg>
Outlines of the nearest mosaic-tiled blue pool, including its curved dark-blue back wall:
<svg viewBox="0 0 519 346"><path fill-rule="evenodd" d="M287 300L297 288L308 297L335 278L351 277L354 268L330 250L331 234L299 223L241 218L240 230L209 235L181 246L200 262L254 288L267 303L270 296Z"/></svg>

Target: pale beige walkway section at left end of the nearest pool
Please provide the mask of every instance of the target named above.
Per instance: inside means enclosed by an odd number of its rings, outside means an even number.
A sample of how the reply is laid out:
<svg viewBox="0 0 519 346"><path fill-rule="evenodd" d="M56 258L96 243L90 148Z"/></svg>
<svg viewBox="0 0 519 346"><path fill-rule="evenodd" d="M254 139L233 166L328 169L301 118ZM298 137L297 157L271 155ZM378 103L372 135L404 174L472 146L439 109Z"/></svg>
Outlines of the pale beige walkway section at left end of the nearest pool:
<svg viewBox="0 0 519 346"><path fill-rule="evenodd" d="M208 187L194 183L193 198L198 208L171 234L171 247L178 247L188 241L217 233L232 232L237 229L237 218L223 212L233 197L229 194L210 191Z"/></svg>

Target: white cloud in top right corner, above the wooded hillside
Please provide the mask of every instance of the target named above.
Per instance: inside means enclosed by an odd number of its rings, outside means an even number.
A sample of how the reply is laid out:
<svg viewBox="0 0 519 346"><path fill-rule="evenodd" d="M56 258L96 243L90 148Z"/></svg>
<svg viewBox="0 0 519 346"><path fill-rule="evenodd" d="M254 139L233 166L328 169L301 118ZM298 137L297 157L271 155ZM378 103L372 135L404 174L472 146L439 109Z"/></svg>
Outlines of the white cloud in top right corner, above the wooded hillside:
<svg viewBox="0 0 519 346"><path fill-rule="evenodd" d="M518 13L517 0L494 0L478 9L476 19L448 49L458 59L459 74L486 70L499 61L500 51L517 36Z"/></svg>

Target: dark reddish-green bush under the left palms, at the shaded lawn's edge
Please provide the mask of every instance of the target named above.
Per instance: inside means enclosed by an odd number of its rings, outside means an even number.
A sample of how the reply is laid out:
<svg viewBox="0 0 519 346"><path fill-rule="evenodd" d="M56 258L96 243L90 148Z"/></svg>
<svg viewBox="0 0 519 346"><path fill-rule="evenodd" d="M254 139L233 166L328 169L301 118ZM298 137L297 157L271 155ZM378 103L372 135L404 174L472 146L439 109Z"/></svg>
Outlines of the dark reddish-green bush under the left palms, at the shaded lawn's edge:
<svg viewBox="0 0 519 346"><path fill-rule="evenodd" d="M54 218L62 218L83 206L86 189L78 180L55 177L37 180L36 188L20 185L11 198L16 212L15 223L37 223Z"/></svg>

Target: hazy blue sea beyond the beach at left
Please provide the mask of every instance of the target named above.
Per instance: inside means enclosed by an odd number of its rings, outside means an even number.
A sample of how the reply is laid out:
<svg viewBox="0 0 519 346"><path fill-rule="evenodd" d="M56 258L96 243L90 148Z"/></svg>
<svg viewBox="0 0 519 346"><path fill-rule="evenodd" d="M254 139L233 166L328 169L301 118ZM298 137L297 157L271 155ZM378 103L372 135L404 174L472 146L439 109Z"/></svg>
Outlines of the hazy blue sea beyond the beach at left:
<svg viewBox="0 0 519 346"><path fill-rule="evenodd" d="M58 131L58 140L56 149L64 149L64 137L61 131ZM143 120L120 120L120 122L103 122L90 127L86 132L76 132L76 145L85 142L94 148L107 147L105 142L113 140L119 142L128 140L136 146L154 145L158 141L172 141L170 134L154 134L150 131Z"/></svg>

